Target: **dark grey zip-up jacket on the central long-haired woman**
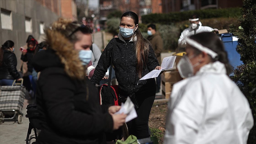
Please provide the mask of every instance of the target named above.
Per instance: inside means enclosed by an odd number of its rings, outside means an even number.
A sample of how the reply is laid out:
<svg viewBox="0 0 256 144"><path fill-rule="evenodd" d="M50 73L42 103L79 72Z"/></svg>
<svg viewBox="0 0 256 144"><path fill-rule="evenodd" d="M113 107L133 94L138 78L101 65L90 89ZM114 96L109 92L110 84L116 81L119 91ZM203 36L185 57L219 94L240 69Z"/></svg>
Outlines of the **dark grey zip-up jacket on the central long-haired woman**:
<svg viewBox="0 0 256 144"><path fill-rule="evenodd" d="M107 68L110 66L113 41L114 39L111 39L100 56L94 74L90 79L93 84L98 84L100 82L104 77ZM116 48L114 49L112 63L115 67L116 79L119 84L119 94L129 95L132 92L156 90L155 79L148 79L137 85L139 77L138 73L136 73L137 59L135 55L135 42L132 41L132 39L129 42L124 41L120 36L119 38L116 38L116 41L117 43ZM146 65L145 68L142 68L142 76L145 76L147 73L154 70L156 66L159 66L157 57L151 46L149 47L148 61Z"/></svg>

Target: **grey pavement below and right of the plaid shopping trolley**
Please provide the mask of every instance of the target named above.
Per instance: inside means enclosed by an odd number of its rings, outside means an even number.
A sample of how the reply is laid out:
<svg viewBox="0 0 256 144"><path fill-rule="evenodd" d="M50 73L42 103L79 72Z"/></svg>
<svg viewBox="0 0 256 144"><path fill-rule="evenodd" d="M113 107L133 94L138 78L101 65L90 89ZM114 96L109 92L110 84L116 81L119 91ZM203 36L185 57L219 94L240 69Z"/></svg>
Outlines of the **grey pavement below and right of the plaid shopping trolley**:
<svg viewBox="0 0 256 144"><path fill-rule="evenodd" d="M26 93L26 98L28 93ZM28 132L28 118L25 117L26 107L28 104L33 103L33 100L24 100L23 104L23 124L18 124L15 121L5 121L0 125L0 144L25 144L25 139ZM34 134L33 130L31 136Z"/></svg>

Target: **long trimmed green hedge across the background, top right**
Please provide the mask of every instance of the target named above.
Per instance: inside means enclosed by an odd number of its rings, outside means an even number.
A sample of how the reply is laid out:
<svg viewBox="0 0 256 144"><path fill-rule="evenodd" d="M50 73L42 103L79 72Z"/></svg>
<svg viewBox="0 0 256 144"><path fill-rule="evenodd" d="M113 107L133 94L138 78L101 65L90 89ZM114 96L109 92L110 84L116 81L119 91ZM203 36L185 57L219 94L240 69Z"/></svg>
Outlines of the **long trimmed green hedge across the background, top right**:
<svg viewBox="0 0 256 144"><path fill-rule="evenodd" d="M227 8L227 9L203 9L185 12L171 12L168 14L149 14L143 15L142 23L160 23L171 24L184 20L196 14L200 19L216 18L216 17L237 17L240 15L240 8Z"/></svg>

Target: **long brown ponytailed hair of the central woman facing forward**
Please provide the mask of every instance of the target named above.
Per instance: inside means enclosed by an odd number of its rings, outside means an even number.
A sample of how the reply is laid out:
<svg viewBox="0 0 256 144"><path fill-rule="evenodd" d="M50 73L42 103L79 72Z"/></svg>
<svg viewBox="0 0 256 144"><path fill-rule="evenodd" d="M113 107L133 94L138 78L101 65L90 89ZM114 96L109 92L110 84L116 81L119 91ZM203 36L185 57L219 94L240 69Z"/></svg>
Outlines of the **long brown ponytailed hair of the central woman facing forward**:
<svg viewBox="0 0 256 144"><path fill-rule="evenodd" d="M122 16L123 17L129 17L134 20L135 25L139 24L139 17L135 12L125 12ZM136 50L136 58L137 58L137 65L136 65L136 71L139 74L139 78L142 77L143 68L146 67L147 61L148 61L148 53L149 53L149 46L151 46L150 42L145 39L140 30L137 28L137 30L133 33L133 41L135 41L135 36L137 37L137 40L135 42L135 50Z"/></svg>

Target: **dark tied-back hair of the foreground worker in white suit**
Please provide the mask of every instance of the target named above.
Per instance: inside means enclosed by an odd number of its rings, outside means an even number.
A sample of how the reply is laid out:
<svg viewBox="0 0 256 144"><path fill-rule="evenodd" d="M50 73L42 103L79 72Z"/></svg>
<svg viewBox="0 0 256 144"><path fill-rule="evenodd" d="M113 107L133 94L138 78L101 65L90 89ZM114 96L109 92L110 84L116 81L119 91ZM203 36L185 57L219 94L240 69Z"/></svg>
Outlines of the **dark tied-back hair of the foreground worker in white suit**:
<svg viewBox="0 0 256 144"><path fill-rule="evenodd" d="M211 49L212 51L218 54L216 59L211 59L212 62L220 61L225 65L227 75L229 75L232 71L232 66L229 64L228 54L225 51L225 47L223 42L216 36L215 33L212 32L203 32L198 33L196 35L190 36L190 39L193 39L200 43L202 46ZM201 51L198 49L194 49L195 54L199 55Z"/></svg>

